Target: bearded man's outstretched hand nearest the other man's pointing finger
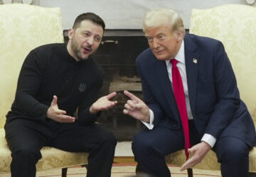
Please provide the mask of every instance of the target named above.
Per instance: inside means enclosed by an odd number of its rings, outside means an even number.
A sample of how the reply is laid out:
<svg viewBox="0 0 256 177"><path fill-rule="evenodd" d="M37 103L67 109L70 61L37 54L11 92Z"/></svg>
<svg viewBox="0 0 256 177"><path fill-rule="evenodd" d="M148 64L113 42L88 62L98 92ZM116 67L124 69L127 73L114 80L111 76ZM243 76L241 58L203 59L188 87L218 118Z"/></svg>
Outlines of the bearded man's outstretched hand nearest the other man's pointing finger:
<svg viewBox="0 0 256 177"><path fill-rule="evenodd" d="M100 110L107 110L112 108L117 104L117 101L110 101L110 98L113 98L116 95L116 92L112 92L107 96L102 96L101 98L97 99L97 101L95 101L95 103L93 103L90 107L90 113L95 114Z"/></svg>

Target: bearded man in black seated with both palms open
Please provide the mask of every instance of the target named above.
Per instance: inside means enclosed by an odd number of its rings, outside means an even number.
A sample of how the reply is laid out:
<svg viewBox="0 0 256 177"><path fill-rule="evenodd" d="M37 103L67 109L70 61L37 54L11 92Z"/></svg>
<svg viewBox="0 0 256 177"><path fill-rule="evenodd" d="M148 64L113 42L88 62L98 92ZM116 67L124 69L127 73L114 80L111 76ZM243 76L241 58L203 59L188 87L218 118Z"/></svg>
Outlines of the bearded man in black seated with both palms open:
<svg viewBox="0 0 256 177"><path fill-rule="evenodd" d="M110 101L116 93L97 100L104 72L90 57L104 30L102 18L82 13L68 31L68 44L43 45L26 57L6 115L11 176L36 176L43 146L89 152L87 176L110 176L117 142L94 122L117 103Z"/></svg>

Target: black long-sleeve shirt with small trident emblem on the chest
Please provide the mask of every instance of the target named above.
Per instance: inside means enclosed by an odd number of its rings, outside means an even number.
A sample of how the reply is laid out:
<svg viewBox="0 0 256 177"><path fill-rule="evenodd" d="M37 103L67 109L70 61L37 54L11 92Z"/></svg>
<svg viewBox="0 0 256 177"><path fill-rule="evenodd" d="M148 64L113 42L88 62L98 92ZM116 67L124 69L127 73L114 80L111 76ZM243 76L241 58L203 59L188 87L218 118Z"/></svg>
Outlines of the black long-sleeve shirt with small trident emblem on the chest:
<svg viewBox="0 0 256 177"><path fill-rule="evenodd" d="M95 122L90 105L97 99L104 72L95 60L77 62L71 57L66 44L50 44L32 50L21 67L18 85L7 122L28 118L46 122L46 113L58 97L58 108L74 116L78 108L78 122Z"/></svg>

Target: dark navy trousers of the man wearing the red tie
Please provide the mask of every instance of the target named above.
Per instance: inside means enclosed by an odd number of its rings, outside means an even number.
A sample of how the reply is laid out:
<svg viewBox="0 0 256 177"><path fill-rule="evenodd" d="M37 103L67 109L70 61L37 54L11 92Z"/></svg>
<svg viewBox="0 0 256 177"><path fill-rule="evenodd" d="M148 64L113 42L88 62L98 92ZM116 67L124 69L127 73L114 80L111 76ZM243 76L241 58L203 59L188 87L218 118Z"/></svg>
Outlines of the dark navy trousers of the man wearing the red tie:
<svg viewBox="0 0 256 177"><path fill-rule="evenodd" d="M193 120L189 121L191 146L201 142ZM152 177L169 177L171 173L164 156L184 148L182 130L154 127L139 132L132 142L132 151L139 168ZM236 137L218 139L213 147L221 164L223 177L246 177L249 170L249 151L247 144Z"/></svg>

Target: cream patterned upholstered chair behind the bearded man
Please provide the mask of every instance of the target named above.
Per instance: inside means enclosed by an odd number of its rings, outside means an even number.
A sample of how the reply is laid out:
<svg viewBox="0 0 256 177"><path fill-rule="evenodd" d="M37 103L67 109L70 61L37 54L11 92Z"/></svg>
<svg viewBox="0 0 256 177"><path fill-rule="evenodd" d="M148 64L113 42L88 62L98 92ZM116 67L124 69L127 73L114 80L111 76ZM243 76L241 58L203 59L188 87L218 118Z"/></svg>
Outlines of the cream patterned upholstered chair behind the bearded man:
<svg viewBox="0 0 256 177"><path fill-rule="evenodd" d="M11 108L21 64L28 52L39 45L63 42L60 8L26 4L0 5L0 173L10 173L11 152L6 144L5 115ZM87 153L63 152L43 147L37 170L63 169L87 164Z"/></svg>

